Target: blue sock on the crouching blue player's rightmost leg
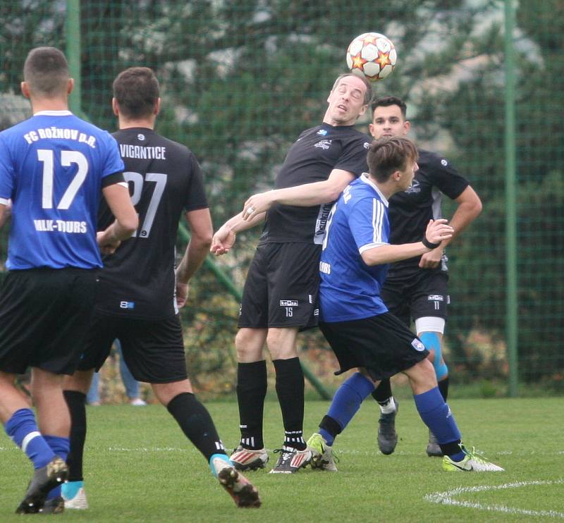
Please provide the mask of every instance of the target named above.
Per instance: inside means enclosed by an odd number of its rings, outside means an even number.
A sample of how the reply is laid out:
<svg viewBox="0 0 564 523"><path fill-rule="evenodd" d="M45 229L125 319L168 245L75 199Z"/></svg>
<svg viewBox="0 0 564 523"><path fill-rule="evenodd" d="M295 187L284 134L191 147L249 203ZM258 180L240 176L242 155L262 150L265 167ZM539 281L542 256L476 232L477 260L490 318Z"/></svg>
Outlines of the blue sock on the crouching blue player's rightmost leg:
<svg viewBox="0 0 564 523"><path fill-rule="evenodd" d="M460 431L450 408L443 400L439 387L431 388L431 390L422 394L415 394L413 399L419 416L434 433L439 443L445 445L446 443L460 442Z"/></svg>

